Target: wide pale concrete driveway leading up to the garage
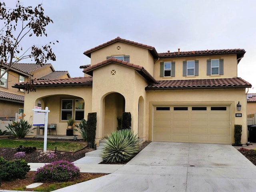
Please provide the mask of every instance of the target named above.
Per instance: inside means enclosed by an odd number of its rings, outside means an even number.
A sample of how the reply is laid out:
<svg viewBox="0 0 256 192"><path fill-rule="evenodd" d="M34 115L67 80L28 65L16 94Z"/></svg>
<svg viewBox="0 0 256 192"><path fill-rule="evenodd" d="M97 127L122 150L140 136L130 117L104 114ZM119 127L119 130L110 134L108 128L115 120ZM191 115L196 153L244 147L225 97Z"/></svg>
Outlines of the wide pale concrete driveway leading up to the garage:
<svg viewBox="0 0 256 192"><path fill-rule="evenodd" d="M56 191L255 192L256 166L231 145L151 142L114 173Z"/></svg>

